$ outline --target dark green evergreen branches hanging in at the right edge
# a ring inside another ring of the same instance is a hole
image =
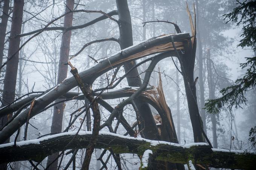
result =
[[[237,1],[238,6],[232,12],[224,15],[227,22],[234,22],[236,25],[243,24],[242,39],[238,46],[244,48],[245,46],[251,47],[256,50],[256,0],[252,1]],[[240,18],[241,17],[241,18]],[[242,69],[248,68],[245,75],[235,81],[235,85],[222,89],[220,92],[222,97],[207,100],[205,109],[209,113],[218,113],[225,105],[229,109],[241,107],[241,104],[246,104],[247,99],[245,94],[251,89],[256,87],[256,57],[246,58],[247,62],[240,64]]]

